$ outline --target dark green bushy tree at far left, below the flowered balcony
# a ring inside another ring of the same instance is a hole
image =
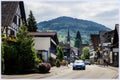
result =
[[[4,44],[4,66],[5,74],[13,74],[17,71],[18,64],[18,51],[15,45],[9,43]]]

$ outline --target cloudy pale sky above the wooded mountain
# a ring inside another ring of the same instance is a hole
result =
[[[33,12],[37,23],[60,16],[90,20],[110,29],[119,23],[119,0],[25,0],[26,17]]]

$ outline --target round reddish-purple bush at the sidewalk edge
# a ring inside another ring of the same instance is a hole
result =
[[[40,73],[47,73],[50,71],[51,65],[50,63],[40,63],[39,64],[39,72]]]

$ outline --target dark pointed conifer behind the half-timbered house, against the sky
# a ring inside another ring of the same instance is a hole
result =
[[[28,31],[29,32],[36,32],[37,31],[37,24],[35,21],[35,17],[33,16],[33,13],[31,10],[30,10],[29,17],[27,19],[27,23],[28,23]]]

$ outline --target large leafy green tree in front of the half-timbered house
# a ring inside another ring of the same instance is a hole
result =
[[[26,72],[34,68],[38,60],[34,46],[33,37],[28,34],[27,27],[23,22],[17,32],[18,71]]]

